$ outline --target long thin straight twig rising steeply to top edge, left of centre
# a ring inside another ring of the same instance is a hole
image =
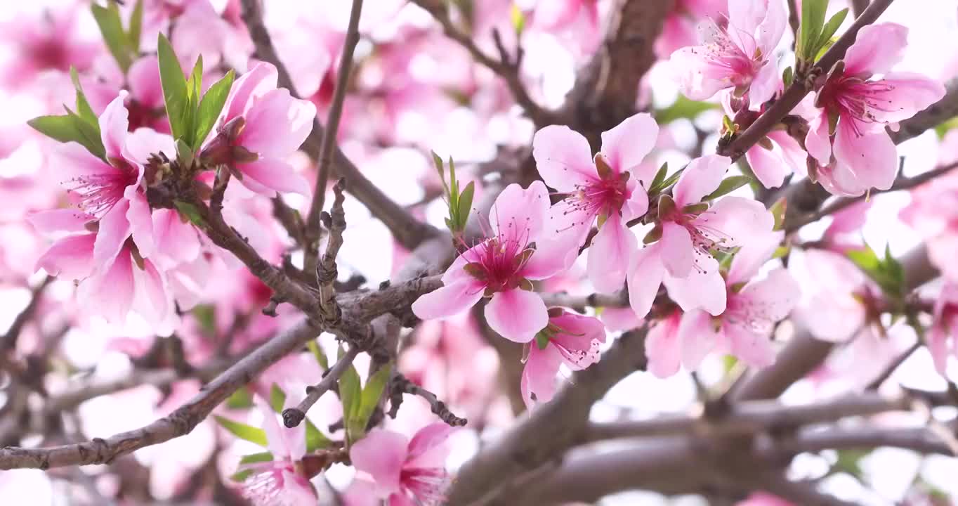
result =
[[[339,70],[336,75],[336,88],[332,93],[330,113],[326,120],[326,130],[323,132],[323,142],[319,146],[317,160],[316,188],[313,190],[312,203],[306,219],[306,256],[303,261],[304,270],[312,272],[316,268],[316,257],[319,251],[319,214],[326,201],[326,186],[332,172],[332,152],[336,149],[336,134],[339,132],[339,120],[343,115],[343,102],[346,99],[346,88],[349,87],[350,75],[353,72],[353,53],[356,43],[359,42],[359,15],[362,12],[362,0],[353,0],[353,9],[350,11],[349,28],[346,31],[346,40],[343,41],[342,55],[339,57]]]

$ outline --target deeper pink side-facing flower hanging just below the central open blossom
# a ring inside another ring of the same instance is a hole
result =
[[[552,399],[562,363],[581,371],[599,361],[599,345],[605,342],[605,328],[596,318],[559,308],[549,315],[549,325],[536,336],[522,370],[522,398],[530,408]]]

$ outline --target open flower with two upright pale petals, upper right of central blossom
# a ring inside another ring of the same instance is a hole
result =
[[[640,164],[655,146],[658,131],[649,114],[636,114],[602,134],[602,150],[594,158],[588,141],[569,127],[544,127],[533,139],[539,174],[566,195],[550,209],[549,228],[578,246],[598,221],[586,268],[600,291],[622,288],[628,261],[638,249],[627,222],[649,209],[640,181],[649,184],[653,174]]]

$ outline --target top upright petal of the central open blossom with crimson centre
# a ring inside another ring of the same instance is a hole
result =
[[[513,183],[495,198],[489,212],[492,233],[519,242],[535,241],[549,213],[549,191],[542,181],[523,189]]]

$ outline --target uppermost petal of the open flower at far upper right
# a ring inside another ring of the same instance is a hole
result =
[[[885,74],[904,56],[908,28],[898,23],[862,27],[845,53],[845,74],[864,77]]]

